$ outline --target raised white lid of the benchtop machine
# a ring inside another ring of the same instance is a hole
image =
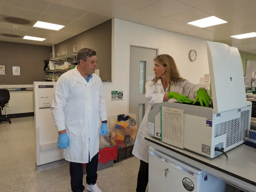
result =
[[[238,49],[207,41],[207,54],[214,113],[246,107],[243,66]]]

